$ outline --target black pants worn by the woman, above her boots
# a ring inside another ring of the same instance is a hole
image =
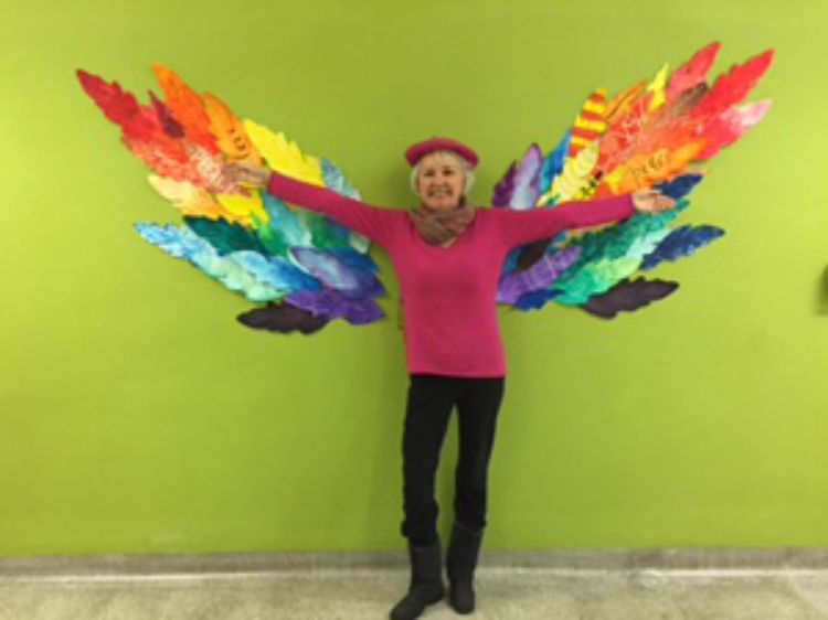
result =
[[[455,519],[486,526],[486,484],[495,428],[503,397],[502,377],[412,375],[403,435],[402,533],[415,546],[437,539],[434,478],[452,409],[457,406],[459,457],[455,470]]]

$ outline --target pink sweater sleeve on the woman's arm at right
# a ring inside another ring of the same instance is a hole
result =
[[[590,202],[567,202],[553,209],[513,211],[495,210],[498,228],[507,247],[517,247],[554,237],[562,231],[597,226],[630,217],[635,212],[633,196],[625,194]]]

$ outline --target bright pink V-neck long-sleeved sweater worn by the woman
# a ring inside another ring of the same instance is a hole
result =
[[[480,209],[453,245],[440,247],[420,236],[405,211],[371,206],[280,174],[270,177],[268,191],[384,247],[405,304],[408,373],[463,377],[506,375],[496,298],[510,249],[635,213],[628,195],[555,209]]]

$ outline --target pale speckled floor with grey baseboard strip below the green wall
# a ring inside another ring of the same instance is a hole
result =
[[[108,565],[75,574],[65,566],[33,571],[0,565],[0,620],[382,619],[407,585],[399,558],[332,564],[199,571]],[[828,568],[491,564],[478,575],[473,618],[480,620],[828,619]],[[442,602],[423,618],[457,616]]]

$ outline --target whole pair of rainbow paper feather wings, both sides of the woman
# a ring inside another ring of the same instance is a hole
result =
[[[637,214],[585,234],[564,234],[512,252],[498,301],[520,310],[548,301],[612,318],[670,295],[678,285],[638,278],[662,260],[689,256],[723,232],[671,228],[702,179],[703,163],[756,125],[769,101],[743,104],[773,52],[735,66],[711,86],[712,44],[668,79],[667,67],[609,98],[593,93],[559,146],[532,145],[497,184],[492,205],[552,207],[572,200],[656,189],[676,209]],[[253,302],[247,327],[311,333],[332,319],[365,324],[384,313],[385,295],[369,243],[323,215],[295,209],[264,191],[229,181],[229,161],[265,164],[301,181],[359,197],[331,161],[301,152],[283,133],[240,119],[217,97],[192,90],[172,71],[153,67],[164,99],[150,105],[113,82],[78,71],[83,88],[123,141],[151,170],[151,185],[181,213],[183,225],[137,224],[150,243],[182,258]]]

